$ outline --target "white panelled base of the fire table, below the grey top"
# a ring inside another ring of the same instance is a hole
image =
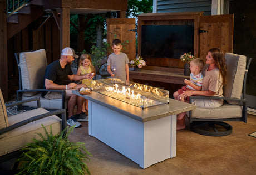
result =
[[[88,107],[89,135],[141,168],[176,157],[176,114],[140,122],[90,100]]]

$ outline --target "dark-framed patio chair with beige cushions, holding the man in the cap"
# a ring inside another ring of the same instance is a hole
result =
[[[14,55],[16,57],[19,71],[19,90],[17,91],[17,100],[40,97],[41,106],[48,110],[67,109],[67,103],[65,103],[65,91],[43,89],[45,69],[48,65],[45,49],[15,53]],[[41,96],[42,91],[61,92],[62,99],[45,99]],[[37,104],[35,101],[22,104],[23,109],[35,108],[36,106]]]

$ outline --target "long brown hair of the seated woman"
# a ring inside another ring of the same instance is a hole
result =
[[[227,65],[222,50],[220,48],[212,48],[209,50],[209,52],[213,56],[215,65],[220,70],[220,74],[223,79],[223,85],[227,84]]]

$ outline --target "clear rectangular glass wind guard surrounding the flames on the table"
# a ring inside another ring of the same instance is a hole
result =
[[[115,78],[93,80],[92,90],[142,109],[169,103],[168,90]]]

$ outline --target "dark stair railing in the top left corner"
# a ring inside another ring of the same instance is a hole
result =
[[[22,7],[26,6],[26,4],[28,4],[29,2],[31,2],[32,0],[7,0],[6,1],[6,6],[7,6],[7,18],[9,16],[11,16],[12,14],[14,14],[15,12],[17,12],[19,9],[21,9]]]

